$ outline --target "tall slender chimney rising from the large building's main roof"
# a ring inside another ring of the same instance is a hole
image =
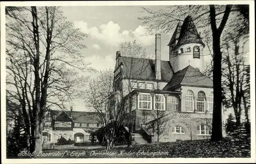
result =
[[[155,58],[156,58],[156,79],[161,80],[161,34],[156,34],[155,44]]]

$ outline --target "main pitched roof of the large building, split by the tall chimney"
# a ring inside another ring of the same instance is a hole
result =
[[[120,57],[123,63],[123,77],[131,79],[156,80],[153,59]],[[173,68],[169,61],[161,61],[161,80],[169,81],[173,77]]]

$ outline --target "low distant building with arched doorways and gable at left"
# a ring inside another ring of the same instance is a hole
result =
[[[98,142],[94,135],[100,124],[97,120],[97,113],[78,111],[53,111],[47,113],[44,123],[43,142],[57,143],[58,139],[65,138],[75,143]]]

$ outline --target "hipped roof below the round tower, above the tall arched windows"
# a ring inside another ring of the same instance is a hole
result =
[[[195,85],[202,87],[212,87],[212,80],[202,74],[198,69],[187,66],[176,72],[170,82],[163,88],[165,91],[171,91],[179,85]]]

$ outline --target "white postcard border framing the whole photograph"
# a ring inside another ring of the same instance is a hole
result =
[[[2,128],[2,163],[238,163],[256,162],[255,160],[255,26],[254,26],[254,1],[119,1],[119,2],[1,2],[1,123],[6,124],[5,112],[5,6],[153,6],[153,5],[226,5],[226,4],[249,4],[250,10],[250,71],[251,71],[251,158],[102,158],[102,159],[6,159],[6,128]],[[5,127],[5,126],[3,126]]]

